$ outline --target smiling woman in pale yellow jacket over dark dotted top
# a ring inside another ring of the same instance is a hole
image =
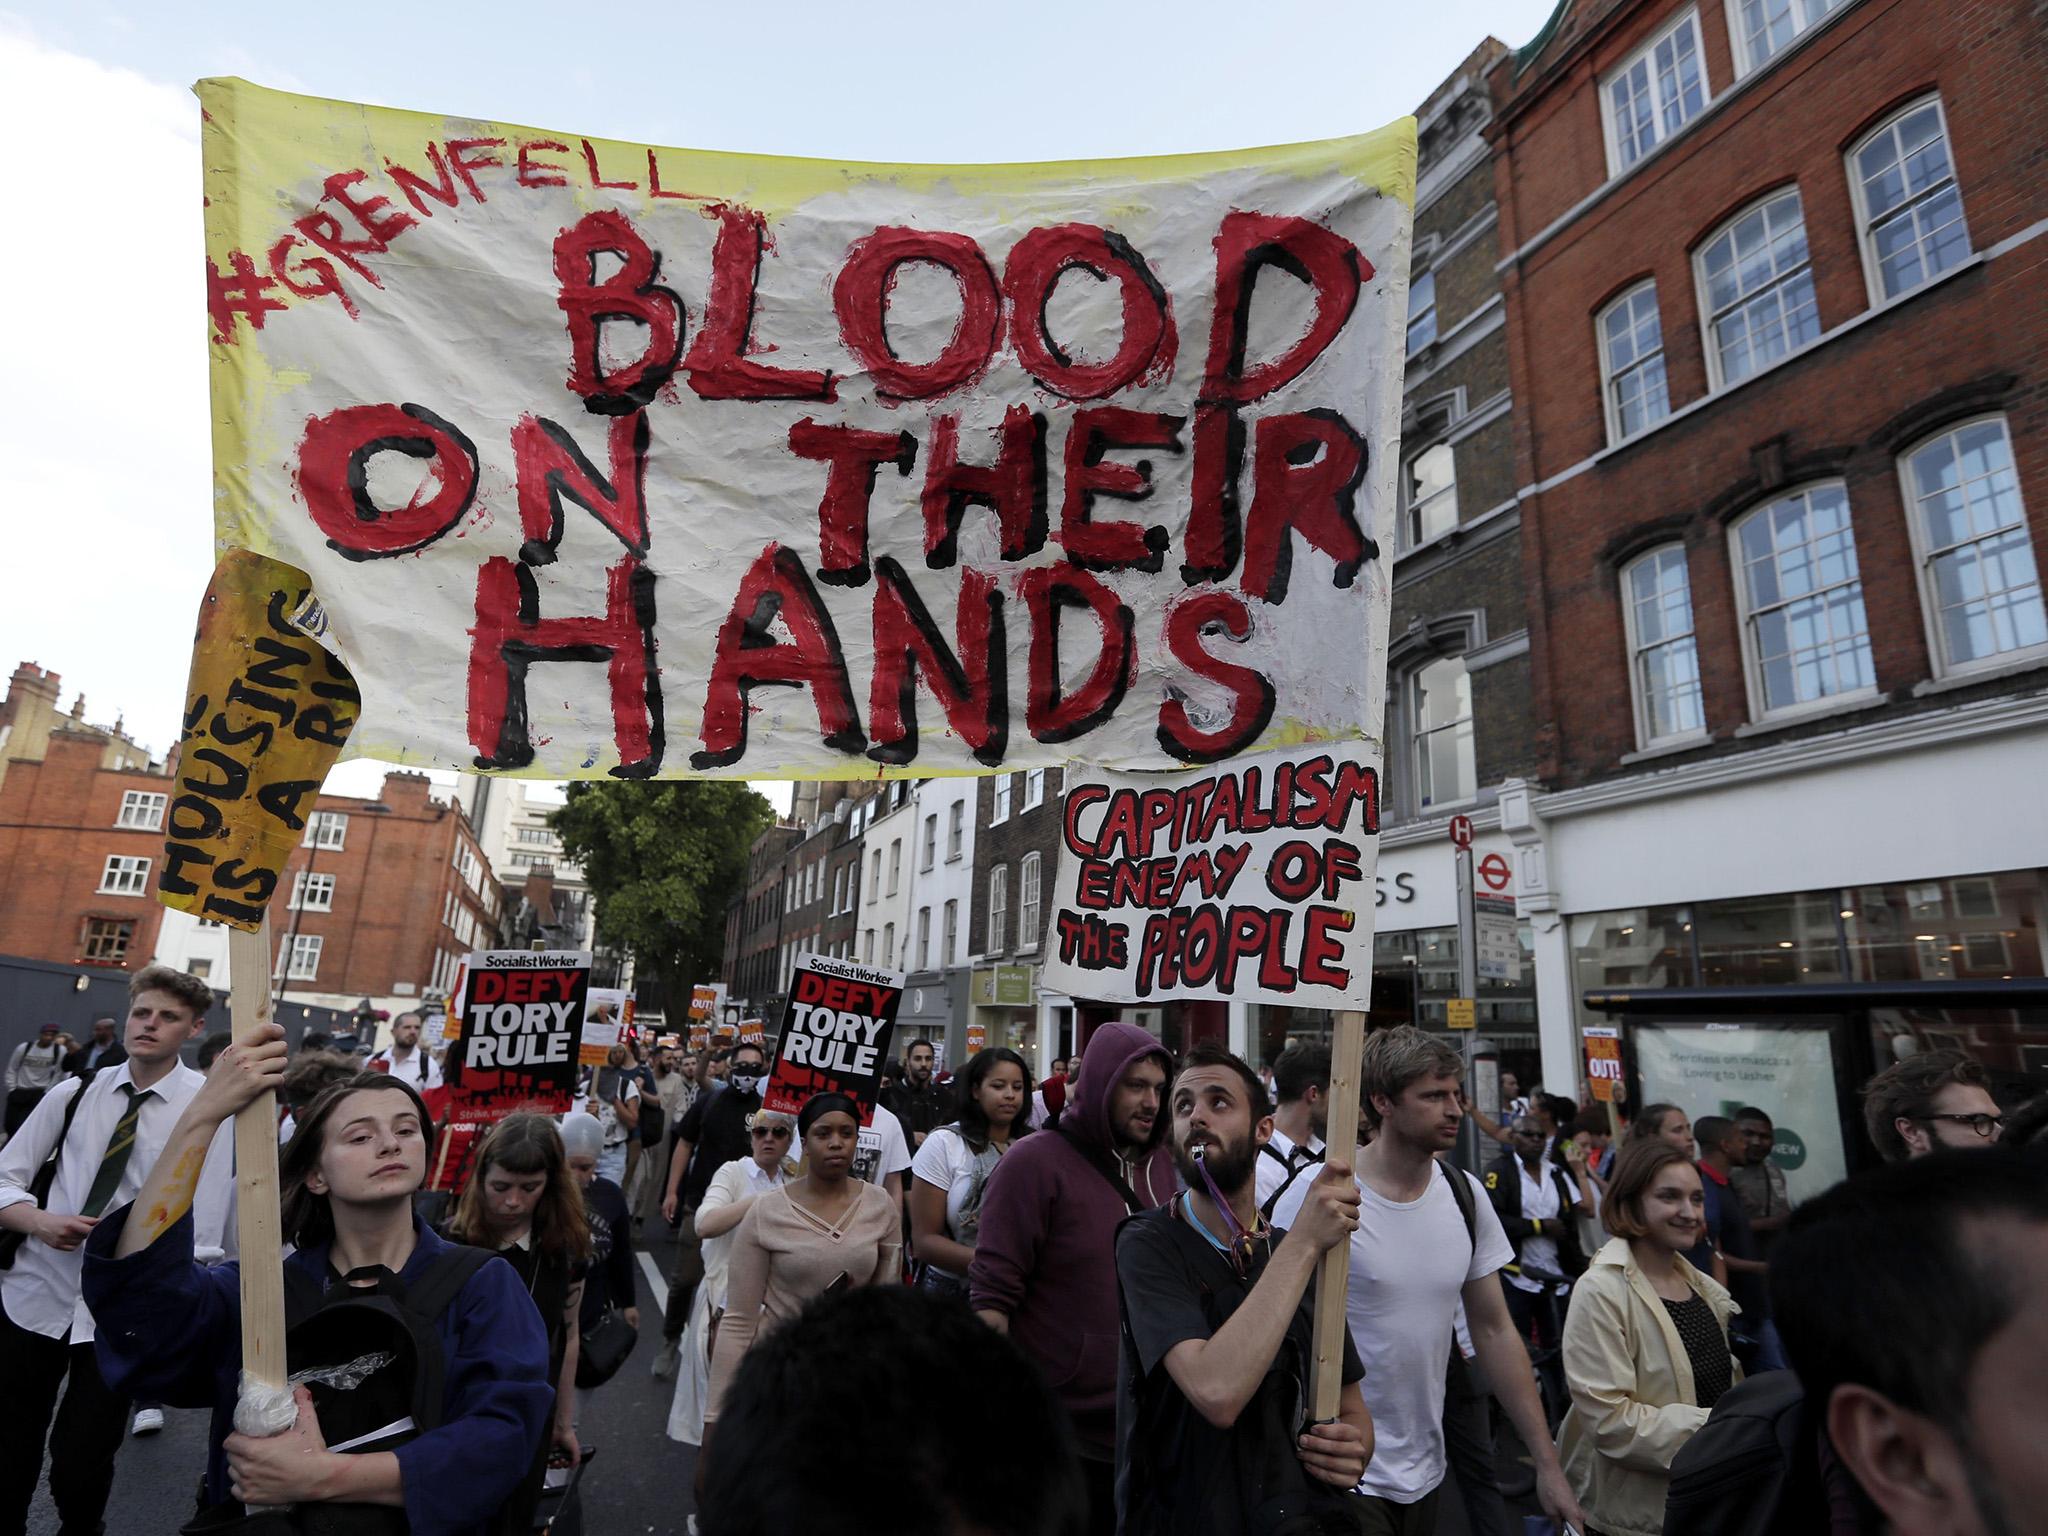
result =
[[[1737,1380],[1735,1303],[1683,1257],[1706,1204],[1700,1169],[1677,1147],[1628,1143],[1599,1221],[1612,1239],[1565,1317],[1571,1411],[1556,1448],[1589,1536],[1661,1536],[1671,1458]]]

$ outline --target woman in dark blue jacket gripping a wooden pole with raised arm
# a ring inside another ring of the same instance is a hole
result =
[[[518,1487],[551,1403],[547,1335],[506,1264],[475,1266],[436,1317],[444,1389],[432,1427],[391,1450],[334,1452],[299,1386],[289,1430],[229,1434],[242,1370],[240,1266],[193,1260],[193,1192],[219,1124],[283,1075],[279,1026],[227,1047],[135,1202],[94,1229],[84,1294],[100,1323],[100,1366],[117,1391],[213,1409],[209,1503],[385,1505],[403,1509],[416,1536],[481,1532]],[[328,1296],[336,1286],[401,1294],[442,1270],[455,1247],[412,1214],[432,1137],[420,1096],[387,1073],[324,1090],[281,1163],[285,1239],[297,1249],[287,1276],[297,1272]]]

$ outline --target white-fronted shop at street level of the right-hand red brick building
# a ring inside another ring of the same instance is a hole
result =
[[[1546,1081],[1579,1083],[1579,1030],[1614,1022],[1587,997],[1634,993],[1636,1102],[1698,1118],[1778,1114],[1780,1096],[1817,1188],[1868,1157],[1860,1090],[1907,1055],[1968,1051],[2007,1104],[2048,1090],[2044,762],[2048,700],[1991,700],[1563,795],[1509,786]],[[1659,995],[1706,1001],[1665,1016]]]

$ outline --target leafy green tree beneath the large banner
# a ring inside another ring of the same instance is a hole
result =
[[[737,780],[584,780],[551,823],[584,866],[598,942],[631,950],[670,997],[721,975],[725,909],[774,807]]]

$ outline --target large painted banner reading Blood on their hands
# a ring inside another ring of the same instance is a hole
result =
[[[1407,119],[881,166],[199,96],[215,537],[309,573],[350,754],[844,778],[1378,729]]]

